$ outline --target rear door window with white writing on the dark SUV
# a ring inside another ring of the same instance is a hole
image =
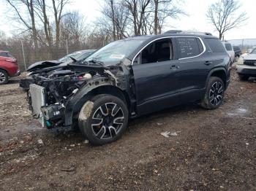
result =
[[[192,56],[200,55],[203,52],[203,44],[200,39],[194,37],[178,37],[177,47],[179,58],[189,58]]]

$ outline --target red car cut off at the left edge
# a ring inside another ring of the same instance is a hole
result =
[[[9,77],[20,74],[17,60],[8,51],[0,50],[0,85],[7,84]]]

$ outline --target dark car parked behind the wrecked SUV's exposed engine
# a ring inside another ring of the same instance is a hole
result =
[[[63,58],[60,58],[57,61],[39,61],[36,63],[31,64],[31,66],[28,67],[27,71],[36,71],[38,69],[45,69],[51,66],[58,66],[61,63],[72,63],[72,61],[75,59],[78,59],[80,55],[83,55],[83,57],[89,56],[92,52],[95,50],[80,50],[77,52],[72,52],[69,55],[65,55]]]

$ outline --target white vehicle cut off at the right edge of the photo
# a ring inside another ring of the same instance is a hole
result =
[[[241,80],[256,77],[256,48],[249,54],[241,56],[236,65],[236,72]]]

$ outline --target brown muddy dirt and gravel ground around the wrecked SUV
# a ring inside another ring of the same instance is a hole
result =
[[[17,82],[0,87],[0,190],[256,190],[255,79],[233,72],[219,109],[140,117],[101,147],[41,128]]]

